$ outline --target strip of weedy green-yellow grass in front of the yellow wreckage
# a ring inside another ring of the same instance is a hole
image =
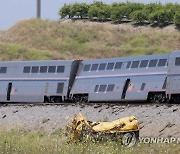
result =
[[[1,130],[0,138],[0,153],[3,154],[176,154],[180,151],[178,144],[137,144],[126,148],[120,141],[68,143],[62,131],[48,135],[43,131]]]

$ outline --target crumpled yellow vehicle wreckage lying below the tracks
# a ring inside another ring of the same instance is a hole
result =
[[[70,139],[82,141],[84,139],[104,140],[104,139],[122,139],[126,133],[134,133],[139,136],[139,122],[134,116],[114,120],[112,122],[91,122],[79,113],[67,126],[70,133]]]

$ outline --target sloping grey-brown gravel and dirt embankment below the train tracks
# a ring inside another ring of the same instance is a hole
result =
[[[141,137],[180,137],[180,105],[63,105],[1,106],[0,129],[65,129],[81,112],[91,121],[111,121],[134,115],[140,122]]]

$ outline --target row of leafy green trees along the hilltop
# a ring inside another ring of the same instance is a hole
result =
[[[65,4],[60,10],[61,18],[87,18],[112,21],[130,20],[137,23],[157,24],[165,26],[175,23],[179,27],[179,4],[161,3],[112,3],[105,4],[95,1],[93,4],[74,3]]]

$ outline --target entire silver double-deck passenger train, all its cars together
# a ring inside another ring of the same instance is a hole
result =
[[[96,60],[0,62],[0,102],[180,101],[180,51]]]

